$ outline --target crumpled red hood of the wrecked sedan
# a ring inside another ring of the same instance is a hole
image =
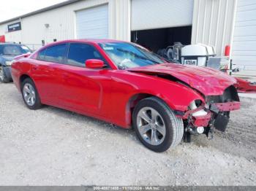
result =
[[[222,95],[227,87],[237,83],[235,78],[222,71],[176,63],[162,63],[127,70],[143,74],[168,74],[204,95]]]

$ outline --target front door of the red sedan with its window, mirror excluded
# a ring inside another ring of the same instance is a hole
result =
[[[100,59],[106,67],[87,69],[88,59]],[[110,100],[110,67],[97,49],[91,44],[71,43],[66,64],[59,67],[62,86],[59,96],[65,106],[79,112],[105,116],[104,108]]]

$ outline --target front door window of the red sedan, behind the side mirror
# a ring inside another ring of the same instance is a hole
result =
[[[68,64],[85,67],[85,62],[89,59],[99,59],[105,62],[102,55],[89,44],[72,43],[69,45]]]

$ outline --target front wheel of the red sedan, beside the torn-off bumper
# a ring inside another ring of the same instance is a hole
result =
[[[132,114],[132,125],[142,144],[154,152],[176,147],[184,134],[181,118],[156,97],[138,102]]]

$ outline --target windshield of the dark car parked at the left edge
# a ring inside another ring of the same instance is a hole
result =
[[[31,52],[29,47],[15,44],[1,44],[0,55],[22,55]]]

